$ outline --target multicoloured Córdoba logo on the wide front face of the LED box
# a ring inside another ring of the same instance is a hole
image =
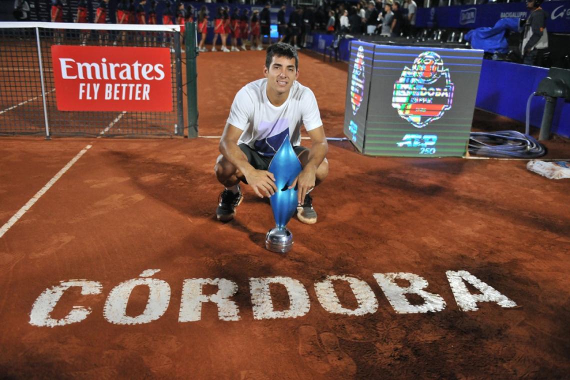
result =
[[[412,68],[404,67],[394,83],[392,107],[416,128],[423,128],[451,110],[454,86],[441,56],[425,51],[414,59]]]

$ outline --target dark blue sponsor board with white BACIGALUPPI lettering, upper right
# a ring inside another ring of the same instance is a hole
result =
[[[570,33],[570,0],[545,1],[546,28],[551,33]],[[418,8],[417,27],[470,28],[491,27],[502,18],[528,18],[524,2],[489,3],[435,8]]]

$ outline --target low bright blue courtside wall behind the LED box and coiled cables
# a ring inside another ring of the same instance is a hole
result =
[[[330,34],[313,34],[311,49],[323,53],[333,39]],[[344,61],[348,61],[349,41],[344,39],[340,43],[340,58]],[[475,107],[524,123],[528,96],[547,74],[548,69],[543,67],[485,59]],[[544,98],[535,96],[531,103],[531,126],[540,127],[543,110]],[[559,99],[556,104],[552,132],[570,138],[570,102],[564,102],[564,99]]]

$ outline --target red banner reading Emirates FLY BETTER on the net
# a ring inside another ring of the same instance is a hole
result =
[[[51,47],[60,111],[172,111],[167,47]]]

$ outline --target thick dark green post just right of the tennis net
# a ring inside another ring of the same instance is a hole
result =
[[[196,22],[187,22],[186,39],[186,102],[188,103],[188,138],[198,137],[198,86],[196,57],[198,56]]]

